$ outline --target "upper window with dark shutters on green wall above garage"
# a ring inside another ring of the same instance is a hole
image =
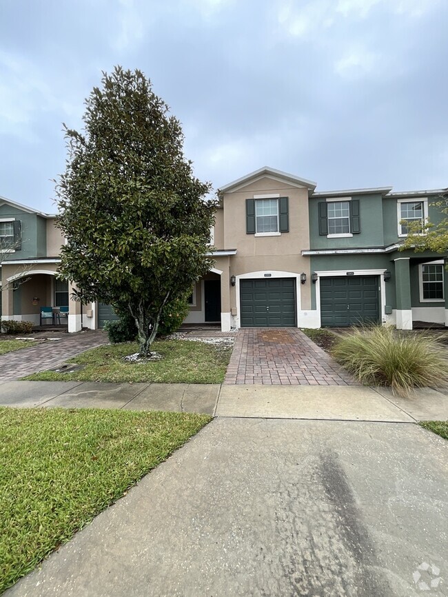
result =
[[[319,234],[329,239],[359,234],[359,199],[327,199],[318,204]]]

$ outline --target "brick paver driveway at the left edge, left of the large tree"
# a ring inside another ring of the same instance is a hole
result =
[[[108,336],[102,330],[88,330],[77,334],[63,334],[60,340],[48,340],[37,346],[2,354],[0,382],[56,367],[79,352],[107,342]]]

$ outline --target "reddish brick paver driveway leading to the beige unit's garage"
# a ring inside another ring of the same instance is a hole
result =
[[[224,383],[356,385],[303,332],[284,327],[240,330]]]

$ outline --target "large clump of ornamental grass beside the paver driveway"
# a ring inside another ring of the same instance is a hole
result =
[[[391,326],[355,328],[338,341],[332,355],[360,383],[389,385],[401,396],[415,387],[448,382],[447,347],[427,334]]]

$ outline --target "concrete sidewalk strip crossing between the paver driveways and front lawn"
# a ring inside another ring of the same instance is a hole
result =
[[[448,420],[448,397],[423,388],[409,398],[387,388],[10,381],[0,406],[199,412],[218,417],[334,421]]]

